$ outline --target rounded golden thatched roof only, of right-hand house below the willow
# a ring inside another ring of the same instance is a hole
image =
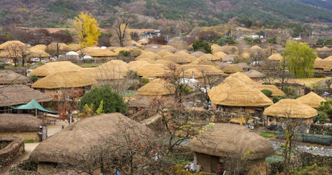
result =
[[[290,114],[290,116],[287,115]],[[282,118],[312,118],[317,116],[317,110],[302,104],[299,100],[295,99],[282,99],[279,102],[267,107],[264,110],[265,116],[276,116]]]

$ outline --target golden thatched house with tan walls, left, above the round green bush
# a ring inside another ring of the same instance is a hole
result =
[[[32,87],[57,99],[59,96],[62,97],[62,89],[83,89],[84,91],[89,91],[93,84],[98,84],[98,82],[81,71],[62,71],[51,73],[37,80]]]

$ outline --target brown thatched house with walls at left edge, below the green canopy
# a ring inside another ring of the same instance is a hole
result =
[[[20,137],[24,140],[42,141],[39,140],[38,133],[42,131],[39,127],[46,128],[46,125],[33,115],[27,113],[0,113],[0,137]]]

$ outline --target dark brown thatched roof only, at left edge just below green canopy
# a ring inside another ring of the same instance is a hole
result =
[[[0,132],[39,131],[44,122],[26,113],[0,113]]]

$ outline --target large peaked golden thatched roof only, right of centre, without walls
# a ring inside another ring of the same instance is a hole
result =
[[[237,77],[228,77],[208,93],[213,104],[231,107],[266,107],[273,102],[254,86]]]

